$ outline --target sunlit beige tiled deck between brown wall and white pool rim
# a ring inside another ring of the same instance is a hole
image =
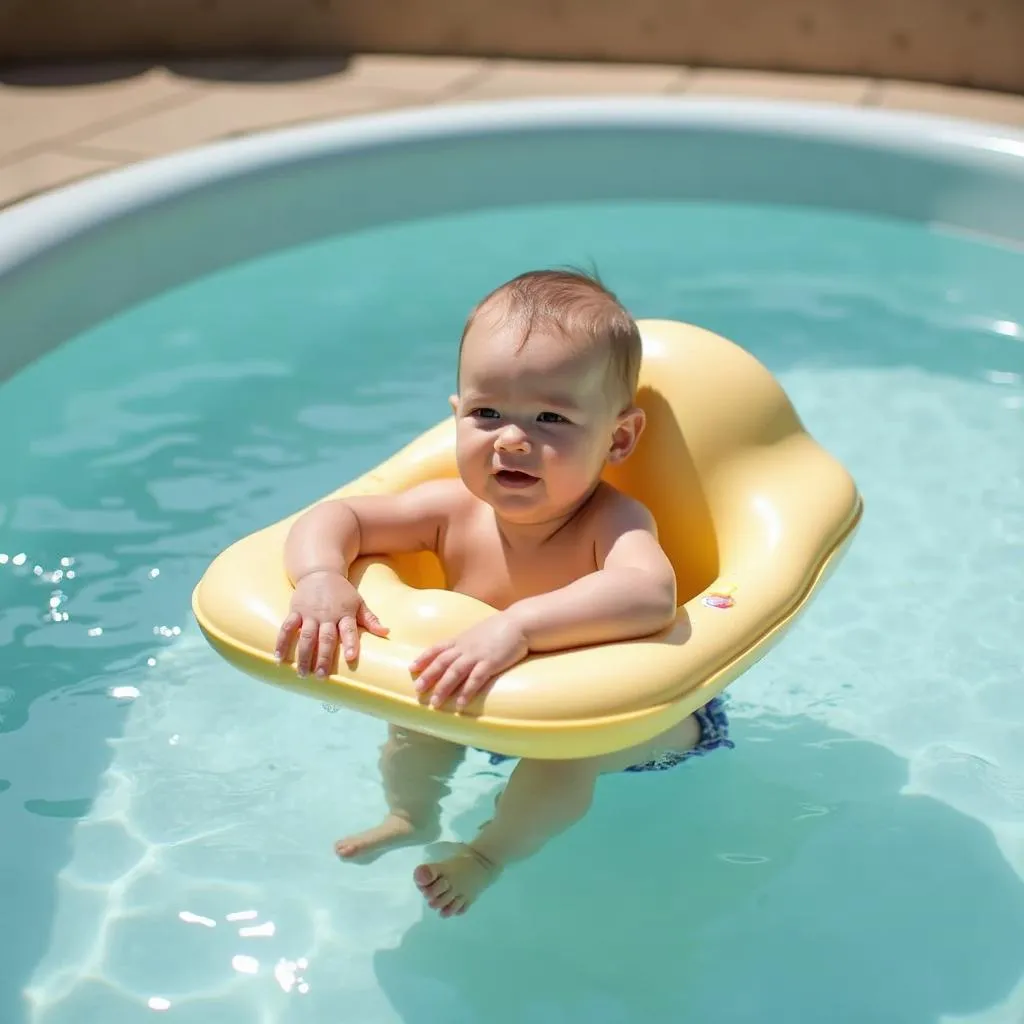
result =
[[[1024,127],[1024,96],[869,78],[449,57],[0,69],[0,207],[176,150],[401,106],[660,94],[925,111]]]

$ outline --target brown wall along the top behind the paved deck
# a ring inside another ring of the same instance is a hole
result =
[[[1024,93],[1024,0],[5,0],[0,59],[449,53],[839,72]]]

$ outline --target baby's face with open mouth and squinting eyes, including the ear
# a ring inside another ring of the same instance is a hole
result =
[[[462,350],[457,422],[466,486],[510,522],[540,523],[574,509],[609,458],[623,452],[607,352],[478,316]]]

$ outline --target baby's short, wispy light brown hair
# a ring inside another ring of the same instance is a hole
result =
[[[570,341],[597,342],[608,349],[609,381],[626,404],[633,401],[640,375],[641,342],[636,321],[597,276],[573,267],[529,270],[513,278],[476,304],[462,332],[462,343],[483,310],[500,309],[499,318],[521,332],[525,345],[537,328],[554,328]]]

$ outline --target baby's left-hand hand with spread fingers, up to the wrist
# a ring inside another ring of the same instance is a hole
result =
[[[358,627],[375,636],[387,636],[387,627],[367,607],[359,592],[340,572],[310,572],[296,585],[292,610],[281,625],[274,655],[289,656],[298,636],[295,668],[300,676],[316,667],[324,677],[334,666],[338,637],[341,636],[345,659],[352,662],[359,652]]]

